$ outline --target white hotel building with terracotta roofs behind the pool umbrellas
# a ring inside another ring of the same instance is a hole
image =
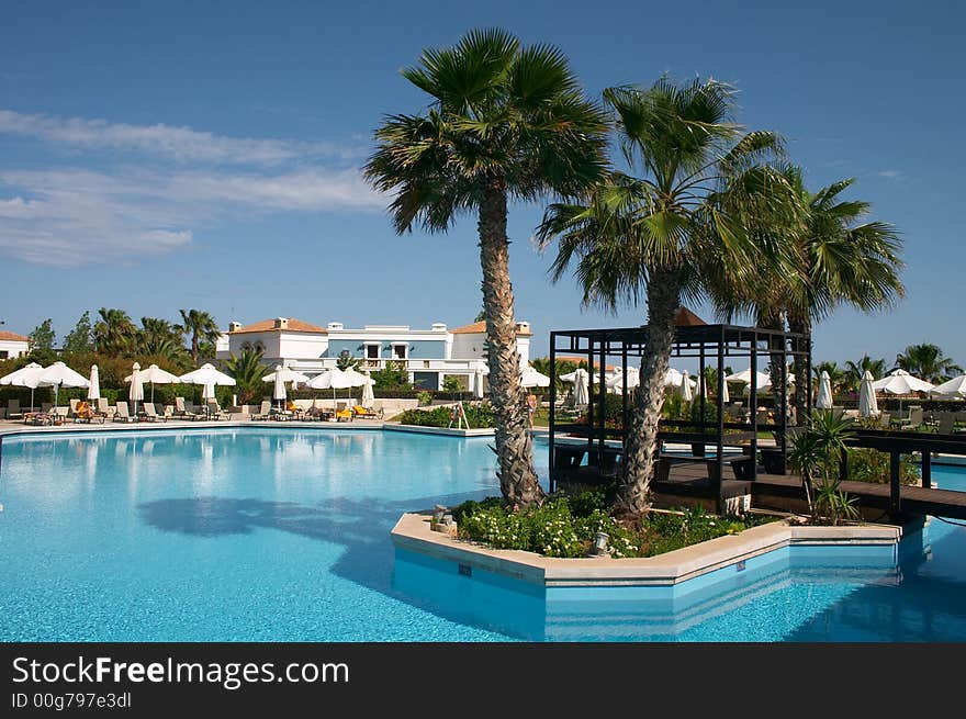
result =
[[[530,361],[530,324],[517,323],[517,352],[520,362]],[[360,360],[360,370],[381,370],[389,362],[403,362],[409,381],[430,390],[441,390],[447,375],[465,378],[473,386],[478,370],[486,367],[486,325],[473,323],[448,329],[434,323],[429,329],[408,325],[366,325],[346,328],[340,322],[325,327],[301,319],[277,317],[243,326],[233,322],[222,335],[216,357],[227,359],[243,349],[259,348],[271,367],[284,364],[310,377],[336,367],[339,357]]]

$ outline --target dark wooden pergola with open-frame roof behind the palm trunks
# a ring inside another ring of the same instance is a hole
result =
[[[589,404],[586,408],[586,424],[560,422],[557,408],[557,387],[550,384],[550,487],[557,488],[559,481],[579,481],[581,483],[599,483],[609,481],[618,468],[619,458],[627,439],[630,406],[630,392],[625,387],[621,396],[622,422],[619,427],[605,424],[605,402],[607,386],[605,383],[608,362],[620,367],[627,377],[629,366],[639,366],[640,358],[648,344],[648,332],[644,327],[624,327],[608,329],[568,329],[550,333],[550,367],[551,375],[555,377],[558,356],[586,358],[589,373]],[[776,439],[775,449],[763,450],[766,468],[785,467],[788,435],[788,361],[804,362],[808,375],[811,377],[811,342],[805,335],[762,327],[741,327],[735,325],[708,325],[694,313],[682,307],[678,310],[672,358],[697,358],[699,374],[698,394],[694,402],[700,404],[698,419],[662,420],[659,428],[659,442],[676,441],[690,443],[690,457],[666,458],[667,462],[700,462],[708,468],[711,488],[720,495],[723,476],[724,448],[740,446],[748,458],[735,473],[742,472],[742,479],[753,480],[757,473],[760,430],[771,430]],[[772,380],[774,394],[774,417],[771,423],[761,423],[757,417],[759,391],[756,372],[759,359],[762,358],[778,369],[778,378]],[[726,420],[721,395],[724,384],[724,367],[734,359],[748,359],[752,369],[749,385],[748,420],[730,418]],[[718,370],[718,386],[714,398],[709,392],[700,392],[701,377],[706,367]],[[777,379],[777,381],[775,381]],[[811,412],[811,392],[806,392],[806,408]],[[714,401],[717,408],[715,422],[706,420],[706,403]],[[679,428],[687,427],[688,430]],[[677,428],[675,430],[675,428]],[[730,430],[730,431],[726,431]],[[734,431],[737,430],[737,431]],[[706,445],[714,445],[714,458],[705,457]],[[767,454],[767,456],[766,456]],[[739,456],[740,457],[740,456]],[[586,459],[586,463],[584,460]],[[659,468],[661,463],[659,463]],[[770,470],[771,471],[771,470]],[[780,471],[784,471],[782,469]],[[660,472],[660,469],[659,469]]]

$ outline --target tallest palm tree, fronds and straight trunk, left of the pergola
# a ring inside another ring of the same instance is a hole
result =
[[[423,114],[386,117],[366,178],[392,194],[398,234],[417,222],[446,232],[459,215],[476,214],[501,492],[510,507],[539,504],[516,347],[507,199],[585,192],[606,167],[606,115],[584,98],[559,49],[521,47],[503,30],[474,30],[453,47],[426,49],[402,74],[431,103]]]

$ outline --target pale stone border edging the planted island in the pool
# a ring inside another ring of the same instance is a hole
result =
[[[404,514],[392,529],[400,549],[464,564],[544,587],[666,586],[789,546],[897,544],[892,525],[790,526],[775,521],[658,557],[557,559],[518,550],[494,550],[429,528],[428,514]]]

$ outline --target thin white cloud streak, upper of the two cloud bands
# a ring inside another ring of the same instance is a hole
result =
[[[300,160],[358,158],[364,145],[227,137],[191,127],[130,125],[105,120],[52,117],[0,110],[0,135],[33,137],[85,149],[114,149],[151,155],[177,162],[280,165]]]

